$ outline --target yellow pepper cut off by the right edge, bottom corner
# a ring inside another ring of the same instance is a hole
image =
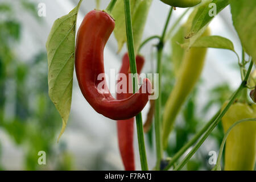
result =
[[[226,104],[228,102],[224,107]],[[222,118],[225,133],[235,122],[249,118],[256,118],[256,105],[234,103]],[[254,170],[255,155],[256,122],[243,122],[233,127],[225,145],[225,171]]]

